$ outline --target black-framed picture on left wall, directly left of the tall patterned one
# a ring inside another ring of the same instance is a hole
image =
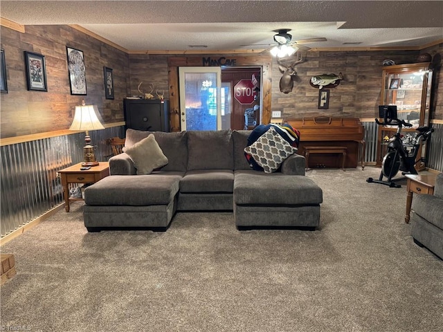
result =
[[[48,91],[44,56],[25,51],[26,83],[28,90]]]

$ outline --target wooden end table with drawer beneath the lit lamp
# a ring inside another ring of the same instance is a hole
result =
[[[107,161],[100,161],[100,165],[93,166],[84,171],[82,171],[80,167],[82,167],[82,163],[58,171],[60,179],[62,180],[64,210],[66,210],[66,212],[69,212],[69,200],[83,201],[83,199],[80,198],[69,197],[69,183],[96,183],[102,178],[109,176],[109,163]]]

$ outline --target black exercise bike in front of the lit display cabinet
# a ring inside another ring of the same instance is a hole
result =
[[[399,170],[402,171],[402,175],[417,174],[415,164],[418,161],[424,161],[424,158],[416,160],[418,151],[422,144],[428,140],[429,136],[431,136],[434,129],[427,126],[418,127],[416,129],[417,133],[415,137],[410,138],[408,144],[405,145],[402,140],[401,128],[413,127],[413,125],[405,120],[399,120],[397,118],[388,120],[386,116],[383,120],[384,122],[380,122],[378,119],[375,119],[375,122],[381,126],[395,125],[398,127],[398,129],[395,135],[388,140],[388,151],[383,157],[383,161],[381,163],[381,173],[379,179],[374,180],[374,178],[368,178],[366,179],[366,182],[381,183],[382,185],[388,185],[389,187],[399,188],[401,185],[398,185],[395,183],[395,181],[404,179],[404,176],[400,178],[394,177],[397,175]],[[383,177],[387,178],[386,181],[383,180]]]

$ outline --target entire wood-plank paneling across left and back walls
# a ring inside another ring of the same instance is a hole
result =
[[[137,86],[149,92],[164,91],[170,100],[171,127],[178,118],[177,66],[199,66],[196,55],[128,55],[123,50],[95,39],[71,26],[26,26],[19,33],[1,26],[1,48],[6,55],[8,93],[1,94],[1,138],[68,129],[81,100],[96,104],[105,123],[123,121],[123,98],[139,95]],[[66,61],[66,46],[84,52],[87,95],[71,95]],[[27,91],[24,51],[45,56],[48,92]],[[374,118],[381,93],[381,63],[393,59],[397,64],[415,62],[419,53],[433,55],[434,89],[431,118],[443,120],[443,75],[440,73],[443,44],[417,51],[309,51],[305,62],[296,66],[293,91],[280,92],[280,71],[275,59],[257,55],[223,55],[246,61],[248,66],[264,66],[263,122],[269,122],[271,111],[282,111],[283,118],[303,116],[342,116]],[[210,55],[215,58],[215,55]],[[264,61],[266,58],[266,61]],[[246,62],[239,61],[238,65]],[[113,68],[115,99],[106,100],[103,66]],[[344,80],[329,95],[329,109],[318,110],[318,89],[309,84],[311,76],[343,73]],[[266,74],[265,74],[266,75]],[[269,92],[265,92],[269,91]],[[269,106],[266,106],[269,105]]]

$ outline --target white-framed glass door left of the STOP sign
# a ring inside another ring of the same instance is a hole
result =
[[[180,67],[181,130],[221,129],[221,68]]]

